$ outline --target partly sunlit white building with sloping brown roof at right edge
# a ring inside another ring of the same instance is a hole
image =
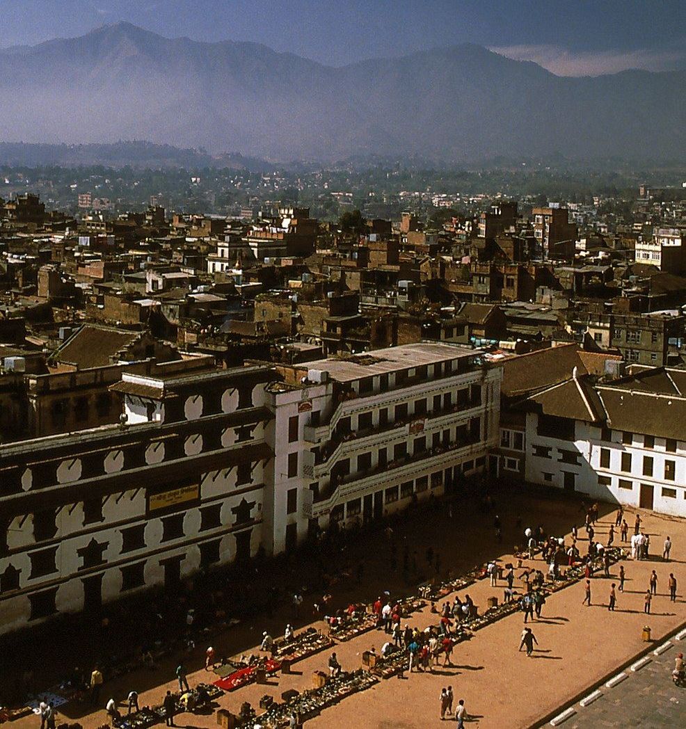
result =
[[[502,442],[512,448],[517,434],[516,443],[526,443],[528,483],[686,516],[683,370],[636,365],[596,385],[574,375],[515,410],[526,413],[523,430],[502,431]]]

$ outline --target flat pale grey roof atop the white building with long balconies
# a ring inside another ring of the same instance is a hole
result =
[[[338,382],[350,382],[373,375],[422,367],[425,364],[447,362],[451,359],[473,357],[483,350],[439,342],[418,342],[399,347],[375,349],[354,354],[346,359],[316,359],[305,363],[308,370],[323,370]]]

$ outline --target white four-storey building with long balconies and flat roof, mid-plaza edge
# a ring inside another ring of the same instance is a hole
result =
[[[502,370],[480,354],[417,343],[279,368],[273,550],[332,522],[378,520],[485,469]]]

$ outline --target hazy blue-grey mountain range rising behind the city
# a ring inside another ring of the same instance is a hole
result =
[[[686,71],[558,77],[461,44],[324,66],[129,23],[0,50],[0,141],[145,139],[267,160],[686,159]]]

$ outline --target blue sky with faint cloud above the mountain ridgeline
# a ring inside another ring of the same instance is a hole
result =
[[[473,42],[564,75],[686,66],[686,0],[0,0],[0,47],[118,20],[332,65]]]

